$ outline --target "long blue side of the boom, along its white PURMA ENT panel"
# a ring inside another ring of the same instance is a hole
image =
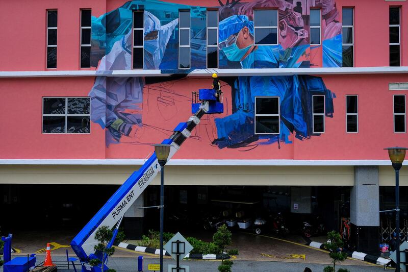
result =
[[[166,141],[166,143],[168,140]],[[171,143],[171,140],[170,140]],[[142,177],[143,173],[152,166],[156,161],[156,153],[153,153],[150,158],[140,167],[138,171],[133,172],[133,174],[119,187],[119,189],[111,196],[108,202],[92,217],[88,224],[80,231],[80,233],[73,238],[71,241],[72,250],[77,254],[81,261],[89,261],[89,256],[85,253],[82,245],[92,234],[92,232],[97,229],[102,222],[115,207],[119,204],[119,201],[129,193],[132,187],[136,184],[138,180]]]

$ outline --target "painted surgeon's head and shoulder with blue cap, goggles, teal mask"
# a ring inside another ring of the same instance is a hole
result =
[[[219,23],[218,48],[229,61],[240,62],[242,68],[253,68],[254,63],[264,68],[277,68],[278,51],[254,45],[253,34],[253,21],[248,16],[233,15]]]

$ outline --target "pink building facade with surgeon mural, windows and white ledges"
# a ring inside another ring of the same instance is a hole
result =
[[[69,190],[76,184],[120,184],[129,165],[141,165],[152,144],[191,116],[191,93],[210,88],[217,73],[224,113],[203,118],[168,163],[171,192],[196,197],[191,188],[200,185],[211,198],[213,185],[231,190],[253,185],[266,209],[265,195],[279,186],[288,192],[281,200],[289,203],[288,213],[324,214],[348,205],[333,228],[350,218],[354,229],[367,233],[355,239],[372,249],[379,210],[393,197],[393,172],[383,148],[408,146],[408,4],[205,4],[0,3],[4,26],[15,20],[16,9],[31,7],[21,11],[19,23],[2,30],[3,205],[13,207],[14,195],[22,198],[27,184],[34,190],[40,184],[65,184]],[[121,174],[105,179],[105,167]],[[58,178],[61,168],[73,176]],[[239,169],[252,173],[251,180],[235,177]],[[27,171],[36,177],[27,180],[22,176]],[[200,175],[191,179],[183,172]],[[405,173],[403,167],[406,217]],[[299,186],[305,195],[296,193]],[[140,203],[150,203],[155,193],[142,195]],[[314,203],[316,194],[330,193],[330,203],[324,197]],[[145,216],[135,210],[128,221],[143,226]]]

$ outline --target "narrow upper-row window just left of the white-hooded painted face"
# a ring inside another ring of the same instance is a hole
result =
[[[143,69],[143,11],[133,12],[133,69]],[[157,39],[158,31],[152,31],[146,34],[144,39]]]

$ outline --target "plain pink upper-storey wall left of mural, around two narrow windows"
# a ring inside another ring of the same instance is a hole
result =
[[[58,10],[57,70],[80,69],[80,9],[100,15],[105,6],[99,0],[0,1],[0,70],[45,70],[47,9]]]

